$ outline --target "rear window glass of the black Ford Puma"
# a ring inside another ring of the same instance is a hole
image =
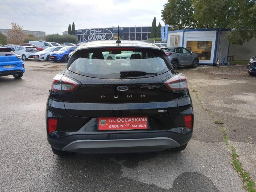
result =
[[[116,51],[114,49],[109,51],[108,49],[108,51],[77,52],[68,70],[79,75],[96,78],[121,78],[121,71],[122,73],[124,71],[146,73],[136,77],[142,78],[159,75],[171,69],[162,52],[148,50]]]

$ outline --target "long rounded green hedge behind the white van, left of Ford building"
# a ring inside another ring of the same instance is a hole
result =
[[[50,34],[45,36],[45,41],[47,42],[56,42],[59,44],[65,43],[65,42],[70,42],[77,44],[77,37],[74,35],[59,35],[59,34]]]

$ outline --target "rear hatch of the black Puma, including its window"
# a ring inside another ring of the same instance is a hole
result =
[[[129,53],[126,59],[104,60],[104,53]],[[79,84],[63,92],[69,115],[82,117],[157,116],[172,113],[179,92],[164,83],[174,76],[161,50],[105,48],[79,50],[71,57],[65,78]],[[159,112],[161,111],[161,113]]]

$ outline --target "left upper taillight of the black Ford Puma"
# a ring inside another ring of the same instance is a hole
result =
[[[52,91],[55,92],[72,92],[75,91],[79,83],[63,76],[62,74],[57,74],[52,80]]]

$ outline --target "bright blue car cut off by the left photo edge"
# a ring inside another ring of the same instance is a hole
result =
[[[21,56],[12,51],[11,48],[0,47],[0,76],[12,75],[19,79],[25,73]]]

